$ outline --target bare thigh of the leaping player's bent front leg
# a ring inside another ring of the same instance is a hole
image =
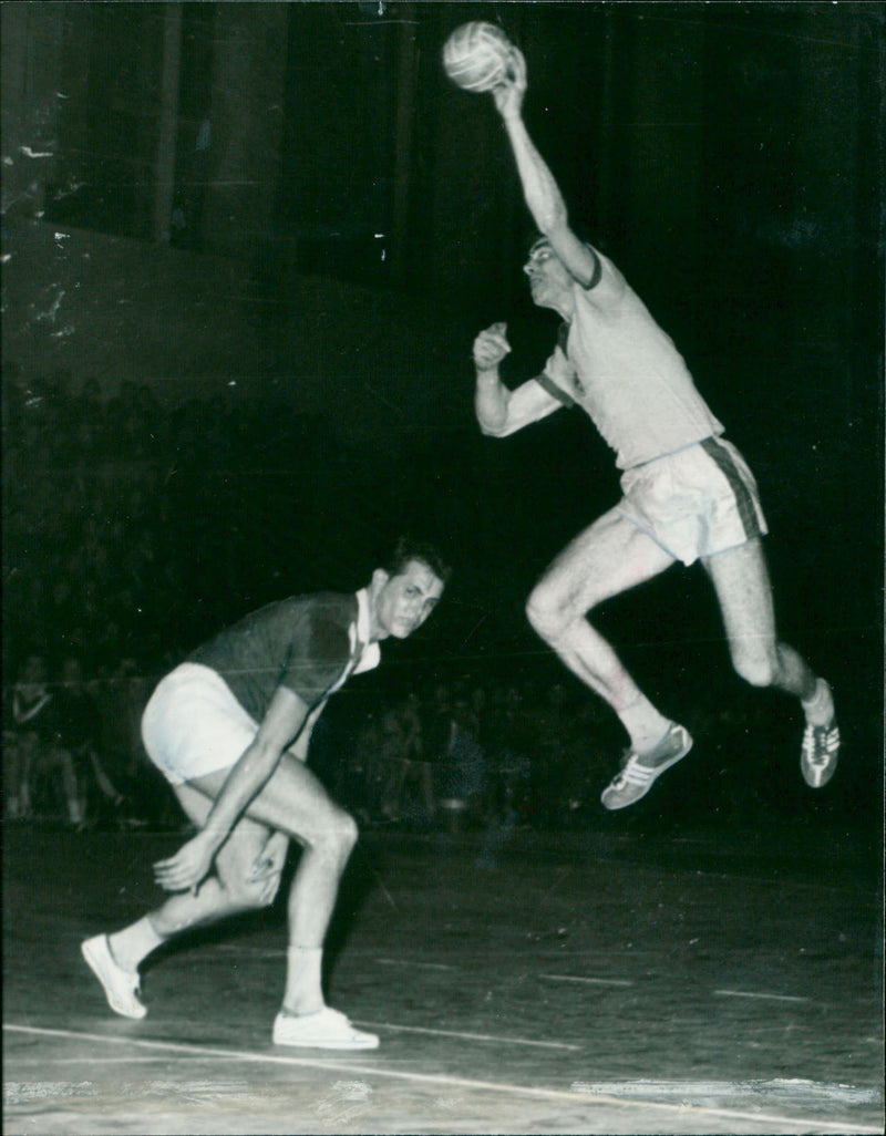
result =
[[[643,529],[610,509],[569,542],[544,571],[536,593],[588,611],[652,579],[674,562]]]

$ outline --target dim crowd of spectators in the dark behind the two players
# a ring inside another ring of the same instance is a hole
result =
[[[160,675],[232,612],[257,605],[250,570],[300,560],[316,569],[318,542],[294,531],[287,486],[312,477],[312,524],[328,527],[316,471],[342,456],[318,452],[319,432],[270,396],[168,409],[145,387],[107,400],[90,386],[75,392],[69,376],[41,384],[11,367],[2,425],[3,816],[181,825],[142,749],[142,709]],[[239,477],[257,453],[260,473],[287,478],[257,487],[254,473]],[[333,469],[327,481],[336,479]],[[703,740],[699,772],[670,778],[679,800],[664,786],[657,797],[696,817],[789,811],[799,722],[741,686],[725,655],[717,675],[697,670],[675,710]],[[360,713],[331,704],[311,760],[367,825],[597,822],[624,738],[599,700],[555,671],[505,659],[496,674],[462,674],[434,660],[399,693],[375,691]],[[783,751],[792,760],[774,763]]]

